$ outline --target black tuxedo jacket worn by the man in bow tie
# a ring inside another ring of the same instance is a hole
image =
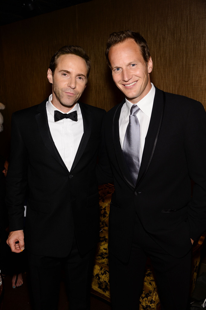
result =
[[[27,249],[36,255],[64,257],[75,233],[80,253],[85,254],[99,236],[95,166],[105,111],[79,102],[84,134],[68,171],[50,134],[46,101],[12,115],[6,177],[10,231],[23,229],[28,190]]]

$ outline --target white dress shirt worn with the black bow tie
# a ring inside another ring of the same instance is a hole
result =
[[[51,103],[51,100],[52,95],[49,96],[49,100],[46,103],[49,129],[52,139],[54,140],[54,144],[58,149],[63,162],[67,166],[67,169],[70,171],[79,147],[79,143],[84,133],[81,109],[79,104],[76,103],[75,106],[68,112],[71,113],[73,111],[77,111],[77,122],[74,122],[69,118],[64,118],[58,122],[54,122],[54,111],[62,111],[55,108]]]

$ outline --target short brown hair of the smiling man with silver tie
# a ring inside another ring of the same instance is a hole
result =
[[[113,32],[109,35],[109,38],[107,39],[107,48],[105,51],[105,56],[106,56],[107,64],[110,69],[111,69],[111,64],[109,62],[109,57],[108,57],[110,48],[113,45],[124,42],[127,39],[133,39],[137,43],[137,45],[139,45],[144,61],[148,63],[150,53],[149,53],[149,47],[147,45],[146,40],[141,36],[139,32],[125,30],[125,31]]]

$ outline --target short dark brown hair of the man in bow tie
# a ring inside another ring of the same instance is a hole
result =
[[[80,46],[74,46],[74,45],[65,45],[62,48],[60,48],[51,58],[50,64],[49,64],[49,69],[52,72],[52,75],[54,75],[54,70],[57,67],[57,60],[61,55],[66,55],[66,54],[72,54],[79,56],[83,58],[86,62],[87,65],[87,78],[89,76],[90,68],[91,68],[91,61],[89,59],[89,56],[86,54],[86,51],[84,48]]]

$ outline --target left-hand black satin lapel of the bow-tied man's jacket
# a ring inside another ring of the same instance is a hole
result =
[[[65,166],[65,163],[62,160],[62,157],[60,156],[54,141],[52,139],[50,130],[49,130],[49,124],[48,124],[48,118],[46,113],[46,102],[48,99],[43,101],[41,104],[39,104],[37,108],[37,113],[35,115],[36,122],[38,125],[38,129],[41,135],[41,138],[46,146],[46,148],[49,150],[50,154],[56,159],[56,161],[62,165],[63,168],[65,168],[67,171],[67,167]]]

